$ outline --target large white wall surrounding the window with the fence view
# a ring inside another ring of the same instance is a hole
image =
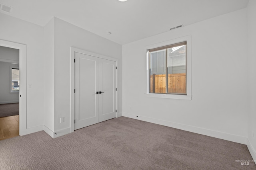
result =
[[[246,144],[246,25],[243,9],[123,45],[123,115]],[[192,100],[146,97],[145,46],[186,35]]]

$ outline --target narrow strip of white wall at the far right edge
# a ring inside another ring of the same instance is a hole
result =
[[[248,3],[248,145],[256,160],[256,1]]]

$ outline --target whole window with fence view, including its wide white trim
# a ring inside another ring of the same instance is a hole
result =
[[[146,95],[191,100],[191,36],[146,48]]]

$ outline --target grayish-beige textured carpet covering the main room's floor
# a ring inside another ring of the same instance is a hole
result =
[[[119,117],[52,139],[0,141],[1,170],[252,170],[246,145]]]

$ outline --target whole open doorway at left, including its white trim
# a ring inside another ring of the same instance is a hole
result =
[[[0,39],[0,64],[1,140],[26,135],[26,45]]]

